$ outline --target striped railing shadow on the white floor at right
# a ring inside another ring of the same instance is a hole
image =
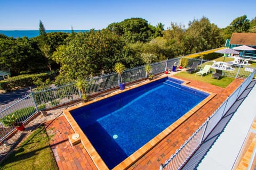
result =
[[[249,86],[244,90],[244,92],[239,96],[233,106],[229,109],[229,111],[221,118],[220,122],[215,126],[213,131],[209,134],[209,136],[205,139],[202,145],[196,150],[195,154],[188,160],[188,162],[182,167],[182,169],[196,169],[204,159],[204,156],[213,146],[213,143],[219,138],[220,134],[225,129],[226,125],[230,121],[231,117],[235,114],[237,108],[244,101],[246,96],[250,93],[251,89],[255,85],[256,80],[252,81]]]

